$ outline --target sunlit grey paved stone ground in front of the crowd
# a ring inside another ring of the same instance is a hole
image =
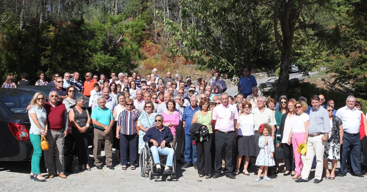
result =
[[[296,183],[291,176],[283,176],[283,173],[273,174],[270,176],[271,181],[255,182],[255,166],[249,170],[250,176],[240,174],[236,179],[225,176],[205,179],[198,176],[194,167],[181,169],[179,163],[173,180],[167,176],[149,180],[148,177],[140,176],[138,167],[136,170],[122,170],[115,160],[113,163],[115,170],[106,167],[98,170],[92,166],[91,171],[66,173],[66,179],[55,177],[45,182],[35,182],[29,178],[30,162],[0,162],[0,191],[364,191],[367,186],[367,177],[354,177],[349,173],[333,181],[324,179],[320,184],[314,184],[315,170],[311,171],[311,180],[306,183]],[[41,165],[41,172],[46,174],[43,162]]]

